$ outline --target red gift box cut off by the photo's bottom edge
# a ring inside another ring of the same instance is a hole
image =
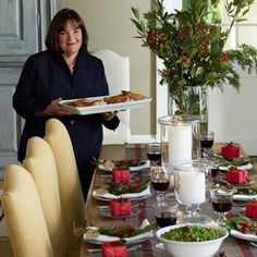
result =
[[[119,242],[108,242],[101,244],[103,257],[126,257],[126,245]]]

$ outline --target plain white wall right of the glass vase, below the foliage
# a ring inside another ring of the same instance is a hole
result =
[[[209,93],[209,130],[216,142],[240,143],[248,155],[257,155],[257,79],[256,75],[242,75],[237,93],[225,86]]]

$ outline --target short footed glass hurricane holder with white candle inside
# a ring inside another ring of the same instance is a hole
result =
[[[184,222],[211,222],[209,216],[200,212],[200,206],[210,198],[210,162],[193,160],[173,166],[175,199],[185,207]]]

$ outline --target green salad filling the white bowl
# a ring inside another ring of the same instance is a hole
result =
[[[211,229],[201,225],[184,225],[161,234],[164,240],[179,242],[204,242],[220,238],[224,232],[219,229]]]

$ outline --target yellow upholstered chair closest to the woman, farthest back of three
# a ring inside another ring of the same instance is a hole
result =
[[[73,224],[84,225],[86,217],[75,156],[66,127],[59,120],[47,121],[45,139],[51,146],[57,161],[68,247],[72,249],[77,244],[77,237],[73,235]]]

